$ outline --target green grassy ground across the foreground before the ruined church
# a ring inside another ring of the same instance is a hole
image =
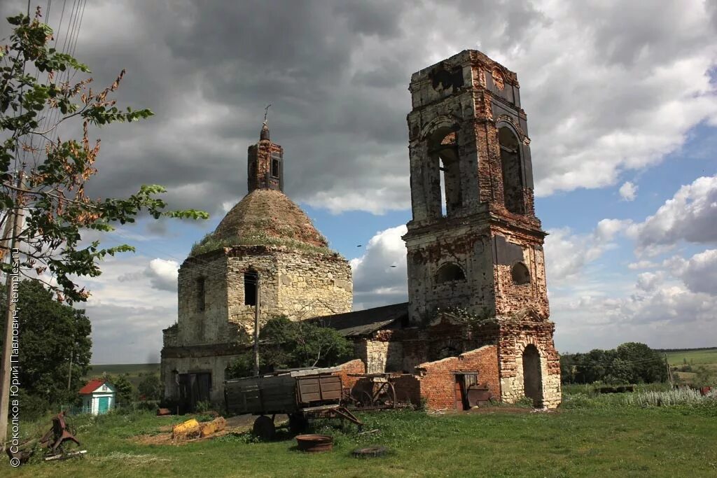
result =
[[[582,405],[580,404],[582,403]],[[9,477],[713,477],[717,475],[717,406],[585,406],[554,413],[429,415],[379,411],[353,426],[315,431],[336,439],[333,451],[304,454],[290,436],[269,443],[229,435],[181,446],[146,445],[136,436],[157,434],[179,417],[110,414],[75,419],[87,449],[84,459],[31,462]],[[186,419],[186,417],[184,417]],[[27,431],[32,431],[26,427]],[[390,454],[356,459],[358,446],[387,446]],[[7,474],[5,474],[7,470]]]

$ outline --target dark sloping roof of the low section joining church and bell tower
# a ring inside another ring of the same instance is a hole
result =
[[[370,335],[384,328],[396,328],[408,318],[408,302],[384,305],[372,309],[356,310],[343,314],[313,317],[323,327],[337,330],[344,337]]]

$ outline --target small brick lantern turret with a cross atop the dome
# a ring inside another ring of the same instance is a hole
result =
[[[247,192],[255,189],[284,190],[284,148],[271,142],[266,114],[259,142],[249,147],[247,160]]]

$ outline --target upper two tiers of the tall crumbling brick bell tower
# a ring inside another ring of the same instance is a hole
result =
[[[409,90],[410,322],[450,307],[547,322],[546,234],[516,74],[465,50],[414,73]]]

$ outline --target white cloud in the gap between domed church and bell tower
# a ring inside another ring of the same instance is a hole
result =
[[[406,231],[402,225],[377,232],[364,255],[351,260],[356,310],[407,300]]]

